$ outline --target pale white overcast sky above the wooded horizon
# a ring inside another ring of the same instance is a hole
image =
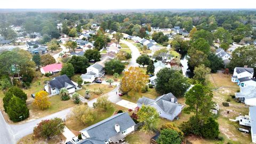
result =
[[[256,0],[1,0],[0,9],[256,9]]]

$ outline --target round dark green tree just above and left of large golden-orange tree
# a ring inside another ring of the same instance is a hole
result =
[[[114,73],[121,74],[125,65],[117,59],[110,60],[105,63],[105,70],[107,74],[113,75]]]

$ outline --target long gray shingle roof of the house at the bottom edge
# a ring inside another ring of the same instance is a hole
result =
[[[88,139],[90,142],[93,143],[96,141],[95,143],[103,143],[117,134],[115,124],[120,126],[120,132],[123,132],[129,127],[135,125],[128,113],[120,113],[104,119],[99,123],[86,127],[81,132],[86,131],[90,135],[91,138]],[[82,143],[87,144],[89,143],[87,142],[88,140],[85,140]]]

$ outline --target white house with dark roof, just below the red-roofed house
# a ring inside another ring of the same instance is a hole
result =
[[[47,82],[44,86],[44,90],[52,95],[60,93],[60,89],[66,88],[68,93],[74,93],[76,90],[76,85],[68,78],[67,75],[61,75],[52,78],[51,81]]]

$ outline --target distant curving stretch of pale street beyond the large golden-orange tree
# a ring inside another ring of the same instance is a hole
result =
[[[120,42],[129,46],[132,51],[132,59],[130,60],[128,69],[130,67],[139,67],[139,63],[136,62],[136,59],[140,56],[140,51],[137,49],[137,47],[134,46],[132,43],[124,41],[124,40],[121,40]]]

